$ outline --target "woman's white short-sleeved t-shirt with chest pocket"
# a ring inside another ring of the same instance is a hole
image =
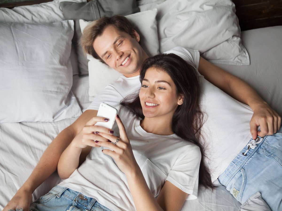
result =
[[[187,199],[196,199],[201,162],[199,147],[176,134],[147,133],[133,112],[121,105],[116,108],[153,196],[158,196],[164,182],[169,181],[190,194]],[[119,136],[116,123],[113,131]],[[92,197],[111,210],[136,210],[125,174],[110,156],[102,153],[103,149],[107,148],[93,147],[81,166],[59,185]]]

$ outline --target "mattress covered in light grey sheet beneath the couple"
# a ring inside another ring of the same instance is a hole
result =
[[[248,30],[241,33],[250,55],[248,66],[219,65],[248,82],[270,106],[282,115],[282,26]],[[72,92],[81,110],[89,105],[89,78],[73,76]],[[58,122],[20,122],[0,124],[0,210],[28,178],[50,142],[76,118]],[[47,193],[58,184],[52,174],[33,193],[33,198]],[[240,203],[224,188],[214,191],[199,187],[198,198],[186,201],[182,210],[239,210]]]

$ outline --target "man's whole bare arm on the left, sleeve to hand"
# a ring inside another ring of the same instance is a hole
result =
[[[23,186],[18,190],[16,195],[11,199],[4,210],[16,210],[16,206],[23,207],[23,210],[29,210],[29,205],[32,200],[32,193],[41,185],[54,171],[57,169],[58,161],[61,154],[70,144],[70,142],[80,135],[81,129],[93,117],[97,116],[97,110],[86,110],[80,117],[69,127],[65,128],[58,136],[50,143],[38,164],[32,171],[31,175],[25,181]],[[80,164],[85,160],[89,149],[82,151],[80,155]]]

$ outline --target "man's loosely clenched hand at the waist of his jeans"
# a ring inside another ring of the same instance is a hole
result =
[[[253,109],[254,114],[250,121],[250,131],[252,138],[256,139],[257,135],[263,137],[272,135],[280,129],[281,116],[279,116],[268,104],[261,103]],[[260,125],[261,131],[257,131],[257,126]]]

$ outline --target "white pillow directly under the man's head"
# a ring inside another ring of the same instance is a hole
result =
[[[136,31],[140,34],[140,45],[149,56],[159,53],[156,15],[157,9],[153,9],[125,16],[133,23]],[[91,22],[80,19],[79,23],[82,33],[85,26]],[[111,82],[116,81],[122,74],[100,62],[98,59],[94,59],[91,55],[87,55],[87,59],[89,59],[89,100],[92,101],[100,91]]]

